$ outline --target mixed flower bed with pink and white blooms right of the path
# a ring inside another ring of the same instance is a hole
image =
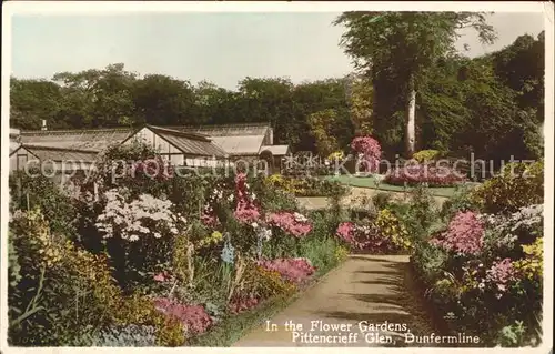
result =
[[[495,179],[467,198],[478,203],[461,204],[444,231],[416,245],[412,263],[427,287],[427,299],[448,324],[447,332],[477,335],[482,346],[537,345],[543,205],[526,201],[541,201],[535,193],[543,185],[514,176],[517,185],[511,188],[518,194],[504,195],[495,205],[480,203],[485,195],[502,195],[508,185],[502,183],[506,174]]]

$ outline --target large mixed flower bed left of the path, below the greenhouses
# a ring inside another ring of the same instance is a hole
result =
[[[11,211],[12,345],[181,346],[292,296],[344,259],[330,237],[335,219],[302,214],[262,178],[183,176],[172,166],[152,175],[158,156],[137,146],[103,159],[94,183],[57,196],[77,212],[74,233],[52,233],[40,209]],[[133,175],[111,179],[112,159],[135,161]],[[50,198],[41,185],[30,193]]]

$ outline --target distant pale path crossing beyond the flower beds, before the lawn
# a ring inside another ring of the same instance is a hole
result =
[[[351,186],[351,193],[343,198],[341,201],[344,206],[357,206],[361,204],[362,198],[372,198],[373,195],[384,192],[375,189]],[[405,198],[404,192],[387,192],[394,199],[402,201]],[[325,209],[330,204],[330,200],[326,196],[297,196],[296,198],[301,206],[309,210]],[[448,198],[446,196],[434,196],[437,206],[443,205]]]

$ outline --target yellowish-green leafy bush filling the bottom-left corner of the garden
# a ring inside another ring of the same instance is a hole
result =
[[[10,230],[22,273],[9,291],[11,343],[60,345],[109,321],[119,290],[105,256],[54,239],[40,210],[17,213]]]

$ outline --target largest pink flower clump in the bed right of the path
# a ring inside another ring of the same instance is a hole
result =
[[[478,254],[484,244],[484,224],[472,211],[458,212],[451,220],[442,239],[431,242],[452,252]]]

